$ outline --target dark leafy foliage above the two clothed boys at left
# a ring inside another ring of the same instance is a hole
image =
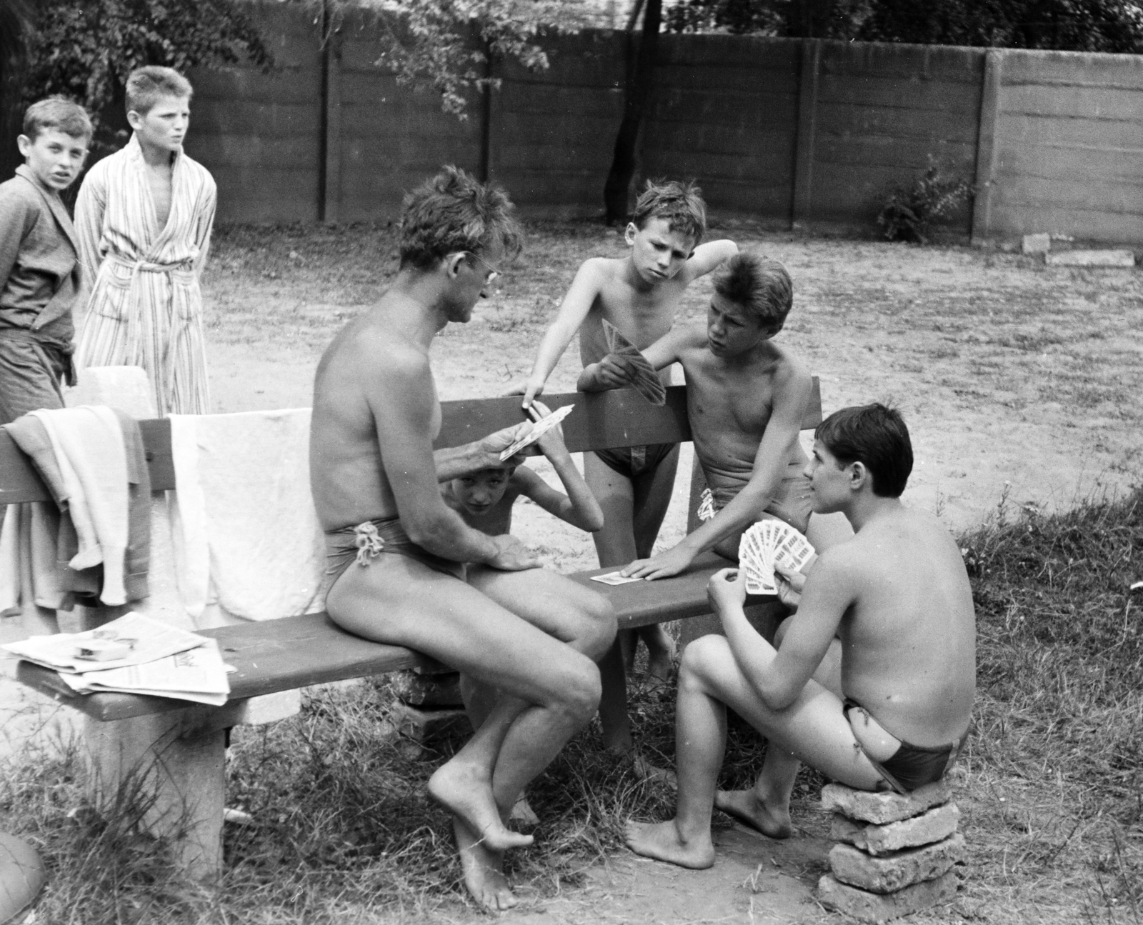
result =
[[[145,64],[185,71],[250,59],[269,69],[261,37],[231,0],[43,0],[29,39],[26,103],[62,94],[99,113]]]

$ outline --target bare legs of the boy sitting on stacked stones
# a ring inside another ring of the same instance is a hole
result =
[[[798,771],[794,753],[836,781],[862,790],[877,788],[880,775],[856,747],[837,695],[810,680],[790,707],[772,710],[740,670],[726,638],[704,636],[687,646],[679,670],[676,818],[657,824],[629,823],[628,845],[636,853],[682,867],[713,863],[710,824],[726,707],[770,743],[754,791],[761,797],[751,814],[757,828],[780,835],[790,827],[790,789]]]

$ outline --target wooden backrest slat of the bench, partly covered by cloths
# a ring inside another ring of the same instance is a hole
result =
[[[563,421],[563,439],[568,449],[673,444],[690,439],[687,423],[687,390],[672,385],[666,390],[666,404],[660,408],[629,389],[612,392],[563,392],[542,396],[552,410],[563,405],[576,406]],[[438,447],[459,446],[519,424],[525,420],[519,396],[474,398],[441,402],[441,429]],[[805,430],[822,421],[822,393],[814,377],[814,398],[801,422]],[[170,454],[170,422],[166,418],[139,421],[143,446],[151,472],[151,489],[175,487],[175,465]],[[0,428],[0,505],[25,501],[49,501],[47,487],[29,458],[8,432]]]

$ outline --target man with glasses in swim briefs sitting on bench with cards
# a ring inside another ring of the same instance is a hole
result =
[[[536,567],[510,535],[469,527],[439,483],[502,465],[529,423],[435,454],[441,413],[429,365],[434,335],[465,322],[520,248],[507,197],[446,168],[407,198],[401,262],[381,301],[318,365],[310,467],[327,535],[329,616],[350,632],[408,646],[462,672],[487,718],[429,782],[448,807],[465,884],[490,910],[515,904],[504,851],[531,837],[504,823],[528,781],[588,725],[594,661],[615,638],[601,596]]]

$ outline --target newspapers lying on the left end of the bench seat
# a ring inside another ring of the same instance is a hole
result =
[[[230,684],[215,640],[127,613],[98,629],[0,646],[59,672],[79,693],[118,691],[221,705]]]

